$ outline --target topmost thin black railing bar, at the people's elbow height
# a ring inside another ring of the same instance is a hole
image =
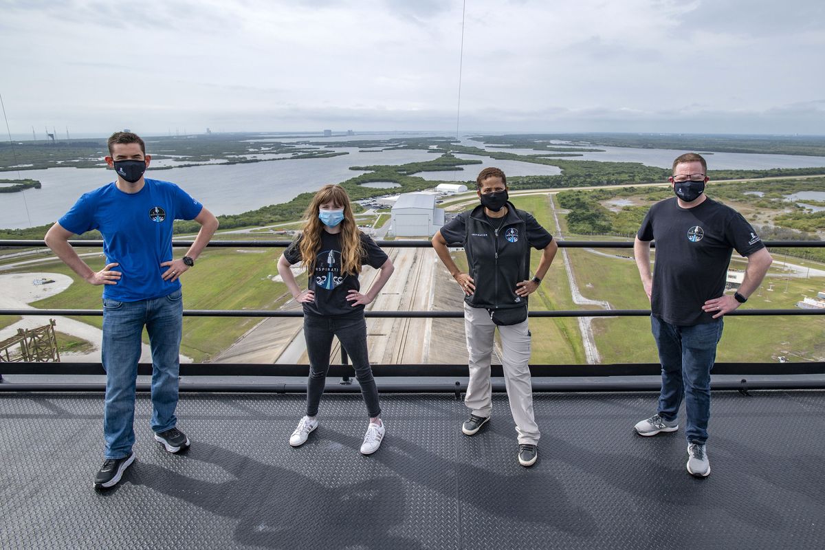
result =
[[[241,247],[241,248],[285,248],[292,241],[211,241],[207,247]],[[564,241],[557,240],[560,248],[633,248],[633,241]],[[68,242],[73,247],[103,247],[103,241]],[[429,240],[417,241],[376,241],[385,248],[429,248]],[[773,248],[819,248],[825,247],[825,241],[763,241],[766,247]],[[172,241],[172,247],[191,247],[192,241]],[[0,247],[45,247],[45,241],[35,240],[0,240]],[[656,242],[651,246],[656,247]]]

